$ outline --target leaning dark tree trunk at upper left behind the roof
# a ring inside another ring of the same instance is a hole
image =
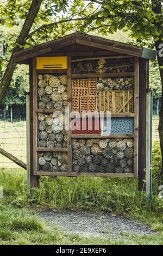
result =
[[[30,28],[33,25],[35,17],[37,16],[37,14],[40,10],[41,2],[42,2],[42,0],[33,0],[32,1],[32,4],[30,5],[26,20],[24,21],[24,25],[20,32],[20,35],[18,35],[18,38],[16,39],[16,44],[22,45],[22,46],[26,44],[27,36],[29,34]],[[12,75],[14,73],[15,66],[16,66],[16,64],[14,63],[14,59],[13,59],[13,53],[21,50],[18,45],[12,51],[9,63],[7,65],[7,69],[5,70],[2,80],[1,80],[0,103],[2,103],[5,92],[9,88],[11,80],[12,80]]]

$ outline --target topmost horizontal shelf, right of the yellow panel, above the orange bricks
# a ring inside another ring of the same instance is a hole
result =
[[[122,76],[133,76],[134,72],[115,72],[115,73],[92,73],[92,74],[72,74],[72,78],[87,78],[87,77],[122,77]]]

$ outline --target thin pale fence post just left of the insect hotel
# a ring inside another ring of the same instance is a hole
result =
[[[30,190],[30,126],[29,126],[29,96],[26,96],[26,152],[27,152],[27,190]]]

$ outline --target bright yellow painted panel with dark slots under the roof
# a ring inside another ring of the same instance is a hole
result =
[[[36,69],[67,69],[67,57],[37,57]]]

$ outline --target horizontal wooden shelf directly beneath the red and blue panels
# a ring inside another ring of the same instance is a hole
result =
[[[71,138],[97,138],[97,139],[106,139],[106,138],[134,138],[134,134],[111,134],[102,136],[101,134],[72,134]]]

